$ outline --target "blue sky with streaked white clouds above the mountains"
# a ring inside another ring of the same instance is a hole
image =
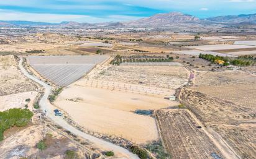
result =
[[[0,20],[124,22],[158,13],[255,14],[256,0],[0,0]]]

